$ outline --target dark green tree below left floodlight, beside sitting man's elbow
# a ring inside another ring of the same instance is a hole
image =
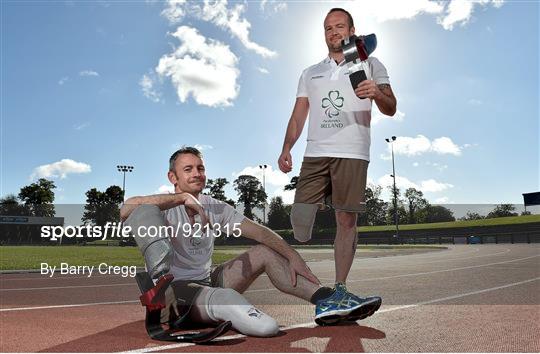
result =
[[[110,186],[105,192],[92,188],[86,192],[86,205],[82,217],[84,224],[105,226],[120,220],[120,204],[124,192],[119,186]]]

